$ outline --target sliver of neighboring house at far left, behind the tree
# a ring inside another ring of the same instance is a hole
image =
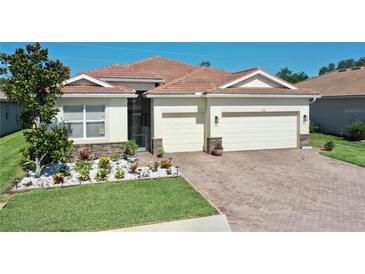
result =
[[[20,130],[20,107],[8,101],[0,90],[0,136]]]

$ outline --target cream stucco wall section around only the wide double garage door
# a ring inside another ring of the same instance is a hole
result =
[[[208,98],[207,109],[209,109],[209,130],[206,137],[221,137],[219,122],[214,123],[215,116],[219,121],[222,119],[222,112],[298,112],[299,133],[309,133],[309,99],[287,99],[287,98]],[[307,115],[308,120],[304,122],[303,116]]]

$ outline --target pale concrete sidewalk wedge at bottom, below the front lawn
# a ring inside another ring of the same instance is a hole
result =
[[[153,225],[134,226],[109,232],[231,232],[225,215],[180,220]]]

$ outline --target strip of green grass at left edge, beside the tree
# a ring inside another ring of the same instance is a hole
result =
[[[19,152],[24,146],[23,131],[0,138],[0,193],[9,190],[14,179],[24,174],[20,167]]]

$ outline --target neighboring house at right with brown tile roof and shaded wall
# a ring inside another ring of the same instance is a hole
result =
[[[343,135],[354,119],[365,121],[365,67],[329,72],[297,86],[321,93],[310,105],[311,120],[321,132]]]

